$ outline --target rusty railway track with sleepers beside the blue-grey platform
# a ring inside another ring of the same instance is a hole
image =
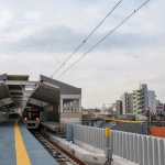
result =
[[[55,142],[51,141],[45,134],[40,131],[33,131],[32,134],[47,150],[47,152],[58,162],[59,165],[87,165],[68,151],[61,147]]]

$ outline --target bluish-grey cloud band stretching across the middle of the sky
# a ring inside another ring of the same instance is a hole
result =
[[[96,33],[94,36],[85,43],[81,47],[81,52],[90,50],[96,43],[98,43],[106,33]],[[66,53],[74,52],[80,43],[88,36],[88,33],[82,33],[80,31],[74,31],[66,26],[51,26],[42,31],[29,34],[19,41],[10,42],[6,41],[0,45],[1,53],[21,53],[21,52],[47,52],[47,53]],[[95,51],[112,51],[117,48],[144,48],[150,46],[160,46],[164,38],[162,33],[158,35],[147,35],[144,33],[120,33],[114,32],[114,34],[108,36]],[[85,48],[84,48],[85,47]],[[139,57],[138,55],[133,55]]]

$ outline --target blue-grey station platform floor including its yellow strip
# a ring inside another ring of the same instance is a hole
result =
[[[23,148],[24,146],[24,148]],[[0,123],[0,165],[58,165],[50,153],[21,123]]]

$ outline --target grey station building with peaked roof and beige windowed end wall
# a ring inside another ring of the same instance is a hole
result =
[[[29,80],[29,75],[0,75],[0,110],[23,111],[37,107],[41,121],[81,123],[81,89],[41,75]]]

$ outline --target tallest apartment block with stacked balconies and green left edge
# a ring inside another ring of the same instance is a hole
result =
[[[147,86],[140,85],[139,90],[133,90],[133,114],[138,112],[145,112],[147,107]]]

